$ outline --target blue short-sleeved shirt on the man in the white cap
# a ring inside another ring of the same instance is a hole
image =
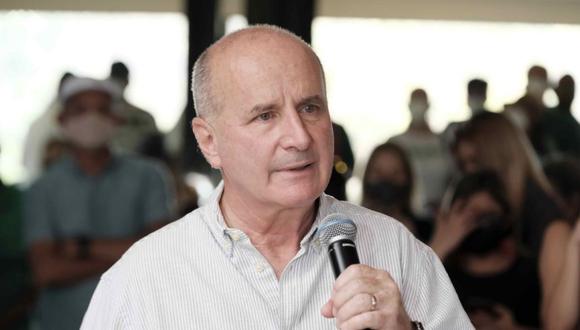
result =
[[[85,174],[72,157],[54,164],[26,194],[28,246],[79,236],[127,238],[169,220],[172,194],[165,173],[150,161],[113,156],[98,175]],[[78,329],[99,276],[41,291],[42,329]]]

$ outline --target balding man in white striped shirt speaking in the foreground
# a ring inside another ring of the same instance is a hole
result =
[[[223,183],[102,276],[84,329],[471,328],[429,248],[398,222],[322,193],[332,125],[307,44],[250,27],[193,70],[193,132]],[[358,225],[365,265],[335,282],[315,232],[336,212]]]

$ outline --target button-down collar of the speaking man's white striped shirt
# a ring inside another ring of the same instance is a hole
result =
[[[221,181],[208,199],[205,213],[206,217],[204,217],[204,219],[206,219],[205,222],[215,240],[222,247],[222,249],[231,256],[236,242],[247,240],[248,237],[241,230],[227,226],[219,205],[223,190],[224,182]],[[314,218],[314,222],[312,223],[310,230],[308,233],[306,233],[306,235],[304,235],[302,241],[300,241],[300,247],[305,250],[312,248],[315,252],[321,252],[322,248],[318,242],[316,233],[318,226],[322,222],[322,219],[331,213],[330,209],[332,204],[332,197],[322,193],[322,195],[316,200],[316,203],[318,204],[316,217]]]

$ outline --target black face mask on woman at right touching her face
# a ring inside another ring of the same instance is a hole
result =
[[[495,250],[510,235],[507,220],[498,213],[486,213],[476,220],[478,227],[461,243],[460,251],[483,256]]]

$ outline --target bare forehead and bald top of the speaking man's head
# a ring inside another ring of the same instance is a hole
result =
[[[287,96],[294,102],[312,95],[326,97],[320,62],[297,37],[271,28],[230,36],[207,53],[216,114],[224,108],[249,112],[256,105],[279,103],[282,90],[290,92]]]

